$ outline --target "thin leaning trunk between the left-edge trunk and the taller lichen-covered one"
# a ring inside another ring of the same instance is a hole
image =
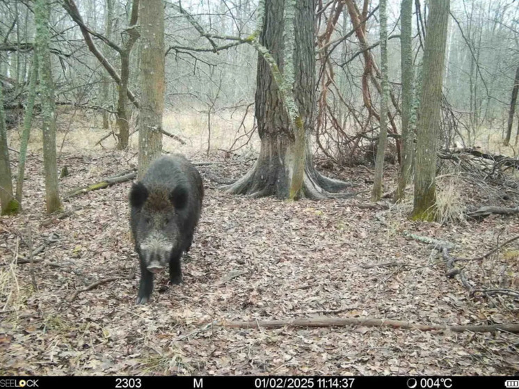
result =
[[[31,70],[31,83],[29,84],[29,97],[24,116],[24,130],[20,140],[20,150],[18,159],[18,178],[16,182],[16,200],[22,205],[24,195],[25,159],[27,155],[27,145],[31,135],[31,122],[33,120],[34,100],[36,97],[36,84],[38,82],[38,55],[33,55],[33,68]]]

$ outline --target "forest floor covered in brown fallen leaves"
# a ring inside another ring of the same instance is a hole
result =
[[[156,276],[135,305],[138,258],[129,233],[131,182],[65,200],[49,221],[37,154],[30,154],[24,213],[0,219],[0,374],[496,375],[519,372],[519,335],[419,331],[388,326],[227,328],[211,323],[369,317],[413,324],[518,323],[517,297],[470,296],[447,278],[441,255],[408,233],[449,241],[475,257],[519,234],[517,216],[418,223],[410,203],[365,209],[365,166],[321,170],[356,186],[347,200],[294,203],[231,196],[211,176],[240,177],[254,158],[191,153],[205,200],[182,285]],[[17,155],[12,153],[13,172]],[[136,152],[66,152],[61,193],[136,166]],[[394,186],[396,168],[385,173]],[[463,188],[474,203],[476,193]],[[477,205],[477,204],[476,204]],[[500,204],[494,204],[500,205]],[[29,229],[35,290],[28,257]],[[519,286],[519,241],[462,262],[474,287]],[[112,279],[112,280],[109,280]],[[99,280],[108,280],[75,294]]]

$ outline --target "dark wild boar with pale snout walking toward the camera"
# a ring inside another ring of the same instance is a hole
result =
[[[180,154],[155,159],[141,182],[131,186],[131,232],[141,262],[137,303],[150,299],[152,271],[166,264],[171,283],[182,283],[180,257],[191,248],[203,196],[200,173]]]

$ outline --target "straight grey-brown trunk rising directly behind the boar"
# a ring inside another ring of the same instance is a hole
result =
[[[141,1],[141,104],[138,113],[138,178],[162,150],[164,108],[164,4]]]

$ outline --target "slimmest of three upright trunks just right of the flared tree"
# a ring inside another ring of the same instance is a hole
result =
[[[381,19],[381,133],[378,136],[378,147],[375,159],[375,177],[372,200],[382,197],[382,177],[384,170],[385,145],[388,142],[388,1],[381,0],[378,12]]]

